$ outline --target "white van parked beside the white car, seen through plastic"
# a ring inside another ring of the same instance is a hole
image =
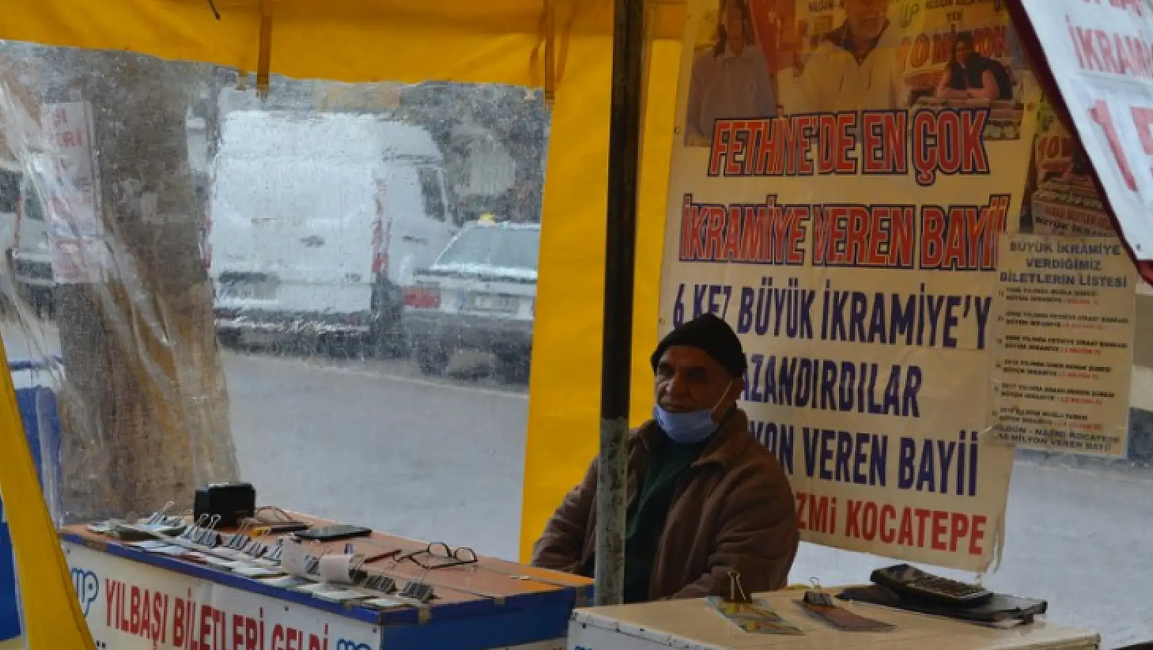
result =
[[[369,115],[233,112],[204,247],[218,332],[383,343],[399,331],[401,287],[454,232],[443,157],[424,129]]]

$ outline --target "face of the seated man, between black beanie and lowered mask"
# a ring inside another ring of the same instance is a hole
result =
[[[713,409],[717,417],[737,401],[743,383],[704,350],[672,346],[656,365],[656,402],[670,413]]]

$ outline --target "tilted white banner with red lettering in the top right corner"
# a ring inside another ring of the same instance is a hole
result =
[[[1019,3],[1125,241],[1153,262],[1153,5]]]

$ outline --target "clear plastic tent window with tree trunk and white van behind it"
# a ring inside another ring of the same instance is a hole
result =
[[[507,530],[543,97],[273,77],[261,98],[254,81],[0,44],[2,334],[56,400],[59,428],[40,409],[31,437],[54,519],[190,508],[197,486],[243,479],[262,504],[416,537],[462,511],[461,530]],[[474,418],[493,449],[445,452]],[[435,491],[429,516],[414,471],[409,504],[379,507],[390,476],[437,464],[496,478],[461,502]],[[500,530],[453,541],[515,557]]]

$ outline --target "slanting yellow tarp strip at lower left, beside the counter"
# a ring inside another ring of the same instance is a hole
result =
[[[5,368],[8,353],[0,338]],[[24,425],[16,407],[16,390],[10,372],[0,388],[0,493],[3,494],[8,529],[16,555],[16,575],[24,611],[24,638],[29,650],[88,650],[95,647],[80,602],[71,589],[71,570],[60,550],[52,516],[40,494],[36,464],[24,437]]]

